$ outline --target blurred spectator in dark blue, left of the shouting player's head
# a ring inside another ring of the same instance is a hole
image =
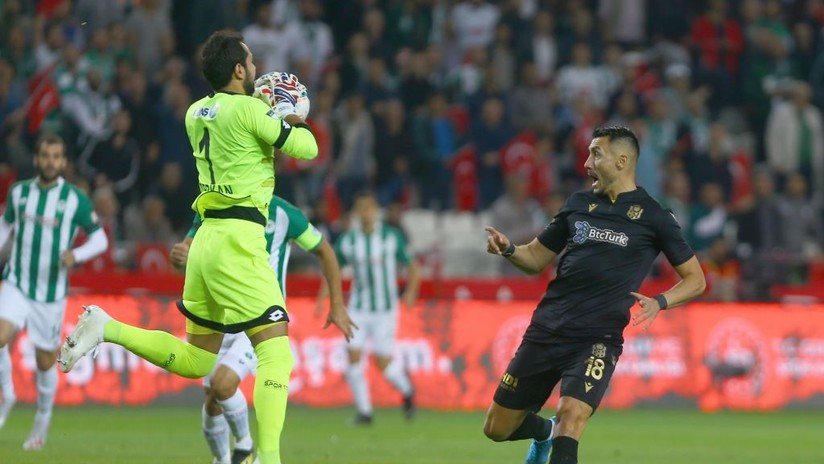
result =
[[[490,98],[484,102],[481,119],[473,127],[471,138],[478,158],[479,207],[486,209],[503,192],[501,154],[499,150],[515,135],[504,119],[503,102]]]

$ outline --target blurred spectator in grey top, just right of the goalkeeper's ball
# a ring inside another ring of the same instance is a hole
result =
[[[362,95],[346,97],[336,110],[335,124],[340,137],[335,158],[338,194],[348,209],[355,194],[368,187],[375,175],[375,127]]]

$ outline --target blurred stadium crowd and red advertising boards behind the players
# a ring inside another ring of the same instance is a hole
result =
[[[586,147],[603,123],[639,134],[638,182],[673,209],[709,284],[649,332],[629,329],[605,406],[821,406],[824,2],[2,0],[0,200],[32,175],[37,135],[57,132],[66,177],[93,198],[114,244],[73,275],[69,324],[94,301],[182,336],[169,303],[182,277],[167,254],[197,185],[183,115],[208,92],[198,46],[224,27],[244,34],[261,72],[293,71],[309,88],[320,155],[279,160],[277,193],[334,240],[353,194],[371,186],[409,238],[425,282],[402,314],[399,356],[423,406],[475,412],[469,443],[482,440],[477,411],[550,277],[485,255],[483,226],[531,239],[586,186]],[[343,340],[319,330],[318,271],[294,251],[293,403],[348,404]],[[643,291],[674,277],[655,266]],[[13,359],[32,401],[25,334]],[[378,377],[378,403],[398,404]],[[162,409],[199,394],[118,350],[60,382],[62,405]],[[297,423],[316,417],[296,411]],[[760,420],[723,417],[744,429]]]

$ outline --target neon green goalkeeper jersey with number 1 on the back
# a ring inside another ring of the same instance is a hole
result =
[[[192,209],[252,206],[268,217],[275,188],[274,148],[300,159],[318,149],[308,126],[292,127],[247,95],[217,92],[194,102],[186,133],[197,165],[200,195]]]

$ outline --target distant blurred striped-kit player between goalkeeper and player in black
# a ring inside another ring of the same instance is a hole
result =
[[[347,347],[349,367],[345,375],[355,397],[356,425],[372,423],[372,403],[362,361],[367,340],[371,341],[383,376],[403,395],[404,414],[411,419],[415,413],[412,382],[392,354],[398,326],[398,267],[406,266],[408,271],[406,291],[400,297],[407,308],[415,305],[420,274],[406,251],[401,231],[381,222],[378,214],[374,193],[360,193],[355,198],[353,227],[335,244],[341,265],[351,266],[354,271],[349,310],[359,330]]]

